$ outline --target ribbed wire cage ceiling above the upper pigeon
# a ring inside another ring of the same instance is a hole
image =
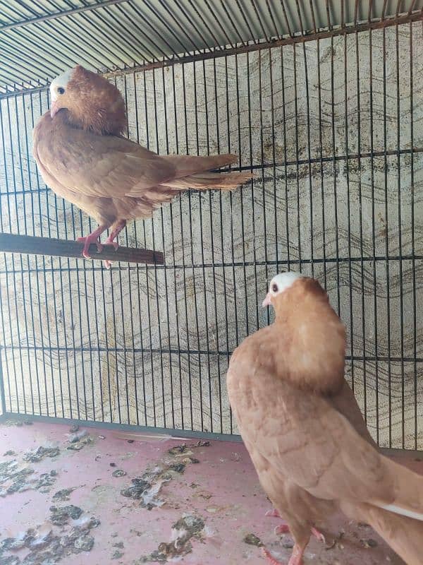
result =
[[[423,0],[0,0],[0,93],[403,13]]]

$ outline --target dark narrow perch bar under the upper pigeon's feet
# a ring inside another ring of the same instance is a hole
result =
[[[30,255],[50,255],[55,257],[75,257],[82,259],[83,243],[68,241],[68,239],[50,239],[49,237],[34,237],[31,235],[0,233],[0,251],[6,253],[24,253]],[[125,261],[126,263],[164,264],[161,251],[137,249],[135,247],[104,245],[99,253],[95,244],[90,245],[92,259],[109,259],[109,261]]]

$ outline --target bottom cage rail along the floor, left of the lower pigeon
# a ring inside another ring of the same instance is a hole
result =
[[[34,422],[46,422],[47,424],[68,424],[74,425],[78,424],[82,427],[99,428],[99,429],[110,429],[114,430],[125,430],[131,434],[136,432],[147,432],[148,434],[168,434],[171,436],[180,436],[186,439],[214,439],[217,441],[235,441],[240,443],[243,440],[241,436],[235,434],[217,434],[215,432],[194,432],[190,429],[178,429],[178,428],[159,428],[159,427],[149,427],[149,426],[137,426],[136,424],[115,424],[114,422],[100,422],[99,420],[71,420],[71,418],[59,418],[52,416],[40,416],[37,414],[31,414],[30,412],[6,412],[0,416],[0,422],[5,420],[16,420],[18,422],[23,422],[25,420],[31,420]],[[137,441],[135,439],[135,441]],[[178,441],[178,439],[168,441]],[[179,441],[180,443],[180,441]]]

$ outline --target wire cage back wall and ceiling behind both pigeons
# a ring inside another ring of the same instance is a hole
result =
[[[78,63],[121,90],[131,139],[255,173],[125,230],[164,266],[2,254],[3,412],[236,434],[228,359],[292,268],[347,326],[376,441],[423,448],[422,5],[1,1],[1,232],[90,228],[32,160],[47,85]]]

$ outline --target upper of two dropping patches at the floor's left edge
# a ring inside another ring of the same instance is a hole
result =
[[[14,459],[0,463],[0,496],[25,490],[49,492],[56,480],[56,471],[44,472],[39,477],[34,476],[34,473],[34,469],[23,467]]]

